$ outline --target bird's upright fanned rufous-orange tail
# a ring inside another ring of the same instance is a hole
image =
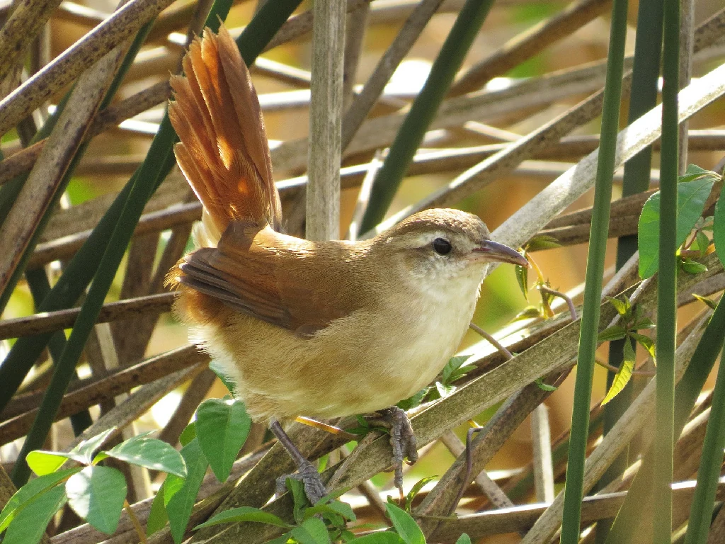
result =
[[[174,75],[169,118],[181,142],[179,168],[204,205],[194,231],[198,247],[214,247],[231,221],[281,226],[281,204],[260,103],[249,70],[222,26],[207,28]]]

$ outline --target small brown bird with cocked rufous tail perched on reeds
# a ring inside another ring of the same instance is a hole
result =
[[[415,441],[405,413],[385,409],[453,355],[486,263],[526,260],[459,210],[426,210],[363,242],[282,234],[259,102],[225,28],[195,39],[183,68],[185,77],[171,79],[174,151],[204,213],[199,249],[167,279],[178,289],[175,311],[252,419],[268,422],[289,450],[313,503],[325,488],[279,421],[387,413],[402,485]]]

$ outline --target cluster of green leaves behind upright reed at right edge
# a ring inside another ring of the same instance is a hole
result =
[[[676,243],[681,247],[682,255],[681,267],[689,273],[703,272],[702,265],[694,263],[687,255],[694,247],[697,251],[696,255],[703,255],[709,246],[708,237],[704,234],[714,228],[713,236],[717,244],[718,237],[722,239],[722,234],[718,236],[718,224],[720,228],[725,228],[723,221],[708,221],[700,216],[703,213],[705,200],[710,195],[713,184],[721,181],[722,176],[711,170],[703,170],[699,166],[689,165],[684,176],[678,178],[677,184],[677,238]],[[716,207],[716,218],[718,216]],[[660,193],[653,194],[645,206],[642,207],[642,214],[639,216],[639,226],[637,228],[639,242],[639,276],[642,279],[652,276],[658,268],[659,255],[659,221],[660,221]],[[714,226],[714,227],[713,227]],[[695,228],[695,234],[687,241],[692,229]],[[725,243],[725,240],[723,240]],[[704,247],[703,247],[704,246]],[[684,255],[683,255],[684,253]]]

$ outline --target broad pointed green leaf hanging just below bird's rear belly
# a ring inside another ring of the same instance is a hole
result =
[[[241,400],[207,399],[196,410],[196,437],[220,482],[229,477],[251,425]]]

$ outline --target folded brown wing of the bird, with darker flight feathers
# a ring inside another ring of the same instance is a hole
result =
[[[218,247],[185,257],[179,281],[241,313],[309,337],[357,309],[355,297],[344,296],[350,286],[330,280],[339,275],[330,260],[316,254],[318,244],[232,223]]]

